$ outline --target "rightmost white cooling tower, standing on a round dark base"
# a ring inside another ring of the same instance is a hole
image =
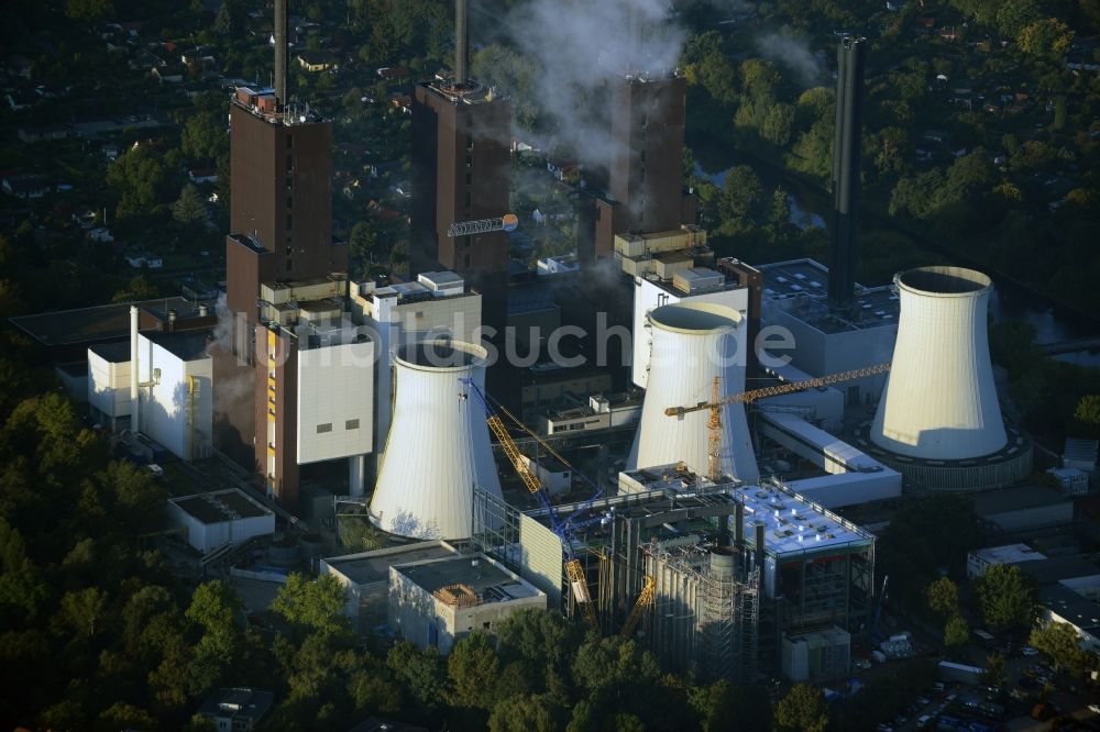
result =
[[[871,440],[934,461],[1000,451],[1008,437],[986,330],[992,281],[961,267],[919,267],[894,275],[894,284],[898,342]]]

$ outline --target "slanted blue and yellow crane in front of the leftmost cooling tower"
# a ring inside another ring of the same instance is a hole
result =
[[[588,583],[584,574],[584,566],[573,553],[572,540],[573,534],[578,531],[603,519],[603,517],[581,518],[582,513],[587,513],[587,510],[591,509],[595,500],[600,498],[602,491],[597,490],[596,495],[590,498],[580,509],[562,520],[554,510],[553,504],[550,502],[550,497],[547,495],[546,489],[539,481],[538,476],[536,476],[531,472],[530,467],[528,467],[527,461],[524,458],[522,453],[519,452],[519,447],[516,446],[516,441],[512,439],[512,435],[508,433],[508,429],[505,426],[501,415],[490,403],[488,397],[482,392],[481,388],[473,381],[473,379],[462,379],[462,382],[477,397],[482,408],[485,410],[485,421],[487,422],[490,430],[493,431],[493,434],[496,435],[497,441],[501,443],[501,447],[504,450],[504,454],[512,463],[512,467],[515,468],[519,478],[524,481],[524,485],[527,486],[527,490],[530,491],[530,493],[538,500],[542,509],[546,510],[547,515],[550,519],[550,530],[553,531],[559,539],[561,539],[561,545],[565,554],[565,576],[569,578],[569,586],[573,590],[573,598],[576,600],[578,606],[580,606],[581,612],[584,614],[585,622],[587,622],[593,630],[598,632],[600,621],[596,618],[595,603],[592,601],[591,592],[588,592]],[[502,410],[504,408],[502,407]],[[504,411],[507,413],[507,410]],[[542,444],[546,445],[546,443]],[[546,446],[549,448],[549,445]],[[559,459],[562,459],[557,455],[557,453],[554,453],[554,455]],[[564,463],[564,461],[562,462]],[[565,463],[565,465],[569,464]],[[573,473],[575,473],[575,470],[573,470]]]

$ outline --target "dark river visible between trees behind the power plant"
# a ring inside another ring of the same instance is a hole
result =
[[[796,179],[770,179],[766,168],[756,165],[754,168],[765,186],[782,184],[790,191],[788,202],[791,206],[791,223],[800,229],[825,226],[829,202],[823,191],[804,184],[799,185],[802,181]],[[704,171],[698,164],[695,165],[695,175],[706,178],[718,188],[724,186],[728,171],[727,168],[712,174]],[[991,276],[994,290],[989,301],[989,311],[994,321],[1018,320],[1030,323],[1035,329],[1037,343],[1060,343],[1100,333],[1100,321],[1059,306],[1018,282],[999,277],[996,273]],[[877,282],[866,284],[873,286]],[[1097,350],[1059,354],[1055,358],[1080,366],[1100,367],[1100,351]]]

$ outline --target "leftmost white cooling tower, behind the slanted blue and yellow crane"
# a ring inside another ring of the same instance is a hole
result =
[[[459,341],[403,346],[394,357],[394,414],[371,522],[417,539],[465,539],[473,485],[501,495],[481,402],[461,379],[485,384],[485,348]]]

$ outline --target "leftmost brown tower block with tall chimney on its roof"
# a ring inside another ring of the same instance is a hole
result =
[[[213,436],[219,450],[255,469],[262,464],[256,445],[265,443],[256,437],[256,414],[266,413],[268,381],[257,376],[268,361],[266,335],[263,343],[256,339],[257,326],[266,330],[260,322],[261,286],[348,268],[346,247],[332,242],[332,123],[308,104],[289,101],[286,25],[286,0],[275,0],[275,87],[238,88],[229,114],[228,312],[220,317],[231,342],[213,353]],[[293,366],[293,359],[287,363]],[[294,403],[293,379],[278,393]],[[293,453],[286,455],[272,492],[293,504],[297,465]]]

